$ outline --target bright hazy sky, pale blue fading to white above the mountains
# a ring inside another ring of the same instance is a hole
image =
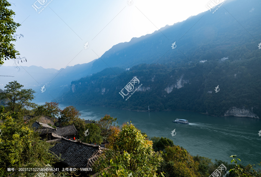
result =
[[[9,2],[14,3],[14,21],[21,24],[17,34],[24,36],[14,42],[20,56],[27,59],[19,64],[60,69],[88,63],[113,45],[204,12],[210,0]],[[13,63],[7,60],[4,66]]]

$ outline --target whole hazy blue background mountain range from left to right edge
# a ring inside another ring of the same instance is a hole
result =
[[[255,10],[252,10],[255,8]],[[43,69],[35,66],[23,67],[15,77],[1,77],[0,88],[17,80],[25,88],[37,91],[36,99],[54,100],[64,91],[71,89],[71,81],[97,73],[108,66],[131,68],[147,63],[169,63],[183,66],[187,62],[215,60],[229,56],[230,60],[247,59],[250,51],[257,49],[261,39],[261,3],[258,0],[226,1],[214,14],[206,11],[189,17],[172,26],[165,26],[152,34],[119,43],[106,51],[99,59],[87,64],[67,66],[65,69]],[[176,41],[177,47],[171,48]],[[1,75],[14,75],[13,67],[0,67]],[[117,73],[119,74],[119,73]],[[2,85],[1,85],[2,84]],[[45,85],[46,91],[41,93]]]

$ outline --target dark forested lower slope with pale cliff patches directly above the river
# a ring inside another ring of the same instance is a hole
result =
[[[119,68],[107,68],[73,81],[72,89],[59,102],[140,111],[148,111],[149,106],[151,111],[186,110],[218,116],[235,106],[261,117],[260,67],[261,57],[224,62],[217,59],[186,63],[182,67],[174,63],[140,64],[124,72]],[[123,98],[119,92],[123,89],[128,93],[124,86],[133,77],[139,80],[135,89],[142,86]]]

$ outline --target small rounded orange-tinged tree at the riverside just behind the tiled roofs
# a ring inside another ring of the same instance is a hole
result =
[[[64,110],[61,111],[62,122],[70,122],[75,121],[81,115],[80,111],[78,111],[74,106],[67,106]]]

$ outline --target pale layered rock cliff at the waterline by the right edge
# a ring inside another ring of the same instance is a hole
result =
[[[245,108],[240,109],[235,106],[226,111],[224,116],[249,117],[259,119],[259,117],[255,113],[253,113],[253,108],[251,110],[248,110]]]

